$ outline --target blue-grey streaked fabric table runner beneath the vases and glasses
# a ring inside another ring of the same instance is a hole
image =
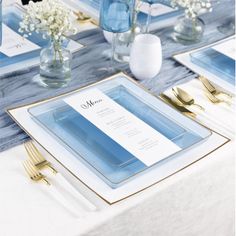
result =
[[[155,78],[142,81],[142,84],[154,94],[159,94],[173,84],[195,78],[196,75],[193,72],[175,62],[171,56],[225,38],[226,35],[218,32],[216,27],[227,18],[234,16],[234,9],[233,0],[221,0],[212,13],[202,16],[206,28],[204,38],[198,44],[183,46],[173,42],[170,27],[154,32],[161,38],[163,44],[163,66]],[[38,73],[38,67],[0,75],[0,151],[29,139],[5,112],[7,108],[53,97],[110,76],[108,72],[99,70],[108,66],[109,63],[109,58],[103,52],[109,50],[110,46],[105,42],[102,31],[89,30],[73,38],[86,47],[73,55],[73,79],[66,88],[47,89],[32,82],[33,76]],[[133,77],[128,64],[116,63],[115,67]]]

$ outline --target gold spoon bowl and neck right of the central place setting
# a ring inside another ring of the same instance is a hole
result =
[[[196,106],[198,108],[200,108],[202,111],[205,111],[205,109],[199,105],[195,103],[194,98],[188,94],[186,91],[184,91],[181,88],[172,88],[172,92],[174,93],[175,97],[181,102],[183,103],[183,105],[186,106]]]

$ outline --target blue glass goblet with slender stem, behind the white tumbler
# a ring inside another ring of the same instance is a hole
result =
[[[100,27],[112,32],[112,56],[114,62],[117,33],[130,30],[134,0],[103,0],[100,5]]]

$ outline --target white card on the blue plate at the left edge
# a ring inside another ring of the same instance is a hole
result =
[[[8,57],[14,57],[20,54],[40,49],[38,45],[17,34],[6,25],[2,25],[2,46],[0,52]]]

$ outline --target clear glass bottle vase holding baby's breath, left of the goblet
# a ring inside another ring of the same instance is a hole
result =
[[[64,87],[71,80],[72,54],[61,41],[51,41],[40,53],[39,79],[43,86]]]

